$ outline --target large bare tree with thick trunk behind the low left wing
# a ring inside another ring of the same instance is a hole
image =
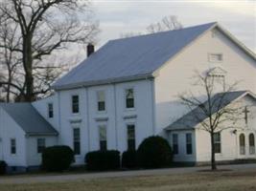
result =
[[[16,89],[20,100],[32,101],[37,95],[46,93],[48,90],[44,89],[42,79],[54,80],[58,67],[45,65],[43,60],[68,48],[71,43],[87,44],[94,40],[98,24],[91,19],[89,8],[87,0],[0,0],[0,24],[8,23],[12,27],[9,33],[13,36],[13,44],[17,44],[12,54],[22,65],[18,83],[8,80],[0,83]],[[15,26],[18,27],[14,31]],[[0,52],[7,48],[7,44],[0,41]],[[41,75],[46,72],[47,76]]]

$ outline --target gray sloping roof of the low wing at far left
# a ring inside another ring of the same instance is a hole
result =
[[[57,136],[58,132],[35,110],[31,103],[0,103],[10,117],[29,136]]]

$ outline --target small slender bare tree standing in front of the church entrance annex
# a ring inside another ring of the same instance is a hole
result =
[[[217,76],[201,75],[197,73],[198,81],[195,84],[202,90],[204,98],[198,97],[192,92],[179,96],[181,103],[188,107],[193,117],[187,118],[186,124],[199,124],[202,130],[210,135],[211,139],[211,168],[217,169],[215,159],[216,133],[236,126],[243,117],[243,104],[236,102],[230,104],[230,94],[234,92],[238,82],[227,85],[224,80]],[[221,90],[221,92],[220,92]],[[219,92],[219,93],[218,93]],[[201,94],[201,93],[200,93]]]

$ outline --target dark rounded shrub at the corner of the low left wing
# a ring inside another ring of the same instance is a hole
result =
[[[42,168],[47,171],[63,171],[74,161],[74,152],[69,146],[51,146],[42,153]]]

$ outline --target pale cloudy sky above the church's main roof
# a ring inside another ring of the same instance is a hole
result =
[[[145,32],[149,24],[176,15],[184,27],[218,21],[256,52],[255,0],[92,0],[100,21],[99,46],[122,32]]]

